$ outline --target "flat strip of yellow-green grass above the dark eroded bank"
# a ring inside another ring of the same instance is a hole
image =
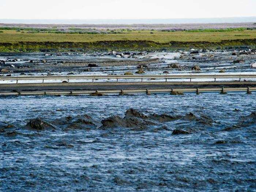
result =
[[[55,33],[22,33],[16,30],[3,30],[0,34],[0,42],[96,42],[96,41],[154,41],[166,43],[170,41],[191,42],[209,41],[217,42],[234,39],[255,39],[256,30],[227,31],[227,32],[193,32],[184,31],[127,31],[125,34],[55,34]]]

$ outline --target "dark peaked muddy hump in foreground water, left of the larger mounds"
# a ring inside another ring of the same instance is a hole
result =
[[[45,129],[56,129],[56,127],[45,120],[42,120],[41,117],[37,117],[31,119],[29,123],[25,126],[25,128],[33,129],[33,130],[45,130]]]

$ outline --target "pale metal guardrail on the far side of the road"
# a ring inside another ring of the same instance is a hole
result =
[[[92,82],[94,82],[95,79],[116,79],[116,82],[118,82],[118,79],[141,79],[141,82],[143,79],[165,79],[167,82],[167,79],[254,79],[256,78],[256,75],[254,74],[239,74],[239,75],[233,75],[233,74],[215,74],[215,75],[205,75],[205,74],[189,74],[189,75],[81,75],[81,76],[1,76],[0,80],[16,80],[16,83],[18,83],[19,80],[42,80],[42,83],[44,83],[44,80],[67,80],[69,83],[69,80],[71,79],[90,79]]]

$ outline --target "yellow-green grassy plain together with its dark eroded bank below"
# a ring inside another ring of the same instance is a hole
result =
[[[52,34],[2,30],[0,52],[49,50],[154,50],[256,46],[256,30],[126,31],[124,34]]]

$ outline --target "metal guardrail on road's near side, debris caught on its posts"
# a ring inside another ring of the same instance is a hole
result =
[[[90,94],[132,94],[132,93],[145,93],[150,95],[151,93],[170,93],[173,92],[220,92],[225,94],[226,92],[241,92],[246,91],[250,94],[252,91],[256,91],[256,87],[222,87],[222,88],[187,88],[187,89],[138,89],[138,90],[79,90],[79,91],[19,91],[19,92],[3,92],[0,95],[90,95]]]

